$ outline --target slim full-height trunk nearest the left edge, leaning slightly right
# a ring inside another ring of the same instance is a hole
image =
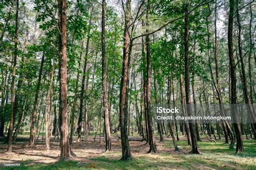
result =
[[[15,36],[14,36],[14,64],[12,67],[12,79],[11,79],[11,114],[10,114],[10,127],[8,131],[8,152],[11,152],[12,146],[12,131],[14,130],[14,83],[15,83],[15,73],[17,65],[17,55],[18,55],[18,15],[19,15],[19,0],[16,0],[16,15],[15,15]]]

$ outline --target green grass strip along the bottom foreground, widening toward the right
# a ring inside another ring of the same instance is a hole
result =
[[[229,149],[224,140],[217,140],[217,144],[210,141],[200,141],[201,154],[186,154],[174,152],[158,152],[157,154],[132,153],[129,161],[119,161],[122,153],[107,152],[90,158],[89,161],[78,165],[78,161],[56,162],[54,164],[35,164],[33,160],[25,160],[19,167],[5,167],[5,169],[160,169],[160,168],[217,168],[217,169],[256,169],[256,142],[244,140],[244,153],[235,154],[235,148]],[[165,141],[164,147],[173,151],[172,141]],[[187,141],[178,141],[182,151],[190,151]]]

